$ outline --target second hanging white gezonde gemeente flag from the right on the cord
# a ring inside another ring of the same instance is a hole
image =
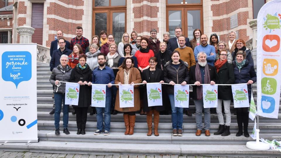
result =
[[[217,85],[203,86],[203,104],[204,108],[217,107]]]

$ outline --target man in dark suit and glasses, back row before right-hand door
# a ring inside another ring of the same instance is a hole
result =
[[[175,28],[175,35],[176,35],[176,37],[170,38],[169,41],[168,41],[167,49],[168,49],[168,52],[170,54],[172,54],[172,52],[175,49],[179,48],[178,38],[179,38],[179,36],[182,35],[182,29],[178,26]],[[187,47],[191,47],[190,42],[189,42],[189,38],[186,37],[185,41],[186,41],[185,45]]]

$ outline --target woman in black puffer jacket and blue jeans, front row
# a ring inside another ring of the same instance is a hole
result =
[[[189,71],[188,65],[182,61],[179,55],[179,51],[173,51],[171,55],[172,60],[164,65],[164,82],[171,85],[167,85],[167,93],[170,99],[172,108],[172,127],[173,136],[182,136],[182,122],[183,122],[183,109],[175,107],[174,101],[174,85],[181,84],[186,85],[189,83]]]

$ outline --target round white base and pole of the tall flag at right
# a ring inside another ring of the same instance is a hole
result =
[[[260,142],[260,130],[256,129],[256,141],[249,141],[246,143],[246,147],[252,150],[260,150],[260,151],[265,151],[269,150],[270,146],[269,144],[265,142]]]

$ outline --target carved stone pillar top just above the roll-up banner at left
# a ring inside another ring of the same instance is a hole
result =
[[[19,26],[17,30],[20,35],[20,43],[32,43],[31,37],[34,34],[34,28],[30,26]]]

